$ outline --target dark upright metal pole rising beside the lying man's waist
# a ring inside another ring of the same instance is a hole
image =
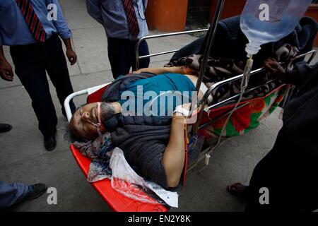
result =
[[[208,32],[208,40],[206,42],[206,48],[204,49],[204,59],[201,64],[200,72],[199,72],[199,78],[196,82],[196,93],[199,93],[201,83],[204,78],[204,73],[206,72],[206,66],[208,64],[208,57],[210,57],[211,47],[214,41],[214,37],[216,36],[216,29],[218,28],[218,21],[220,20],[220,15],[222,13],[224,6],[224,0],[218,0],[218,6],[216,7],[216,14],[213,18],[213,24],[211,25],[211,29]],[[194,111],[194,104],[196,103],[196,95],[192,97],[192,105],[191,105],[191,114]],[[196,122],[198,124],[198,121]],[[194,133],[196,133],[198,126],[194,126]]]

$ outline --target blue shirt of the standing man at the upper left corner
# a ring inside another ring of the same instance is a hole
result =
[[[70,38],[71,30],[66,24],[65,18],[57,0],[29,0],[37,17],[42,23],[47,39],[53,34],[61,38]],[[49,4],[57,6],[57,20],[49,21],[47,15],[52,8],[47,9]],[[16,0],[0,1],[0,46],[2,45],[25,45],[37,42],[25,23],[25,18],[16,4]]]

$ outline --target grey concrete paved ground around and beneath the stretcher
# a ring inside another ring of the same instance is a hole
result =
[[[73,32],[73,46],[78,63],[69,66],[74,90],[112,81],[107,59],[107,38],[102,26],[86,13],[84,0],[60,1],[66,20]],[[155,34],[158,32],[150,32]],[[194,40],[178,37],[149,40],[151,52],[177,49]],[[8,48],[5,54],[11,57]],[[163,66],[170,55],[155,57],[151,66]],[[316,59],[317,61],[317,59]],[[11,61],[12,62],[12,61]],[[37,129],[37,119],[30,104],[30,97],[17,76],[12,83],[0,81],[1,122],[12,124],[13,130],[0,134],[0,179],[5,182],[42,182],[57,189],[57,205],[47,204],[45,194],[10,208],[12,211],[111,211],[93,189],[76,165],[64,139],[67,122],[61,114],[54,87],[52,98],[57,109],[57,148],[45,151],[42,134]],[[76,104],[84,102],[76,99]],[[211,156],[210,165],[201,172],[189,173],[187,184],[179,196],[179,208],[172,211],[242,211],[245,203],[226,191],[232,182],[248,183],[254,166],[271,150],[282,122],[276,110],[257,129],[245,136],[230,138]]]

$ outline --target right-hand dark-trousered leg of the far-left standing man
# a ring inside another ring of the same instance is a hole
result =
[[[59,37],[54,36],[45,42],[45,67],[49,78],[57,90],[57,97],[62,107],[62,113],[66,117],[64,109],[64,100],[68,95],[73,93],[71,79],[69,77],[69,69],[67,69],[66,59]],[[70,102],[71,112],[75,112],[73,101]]]

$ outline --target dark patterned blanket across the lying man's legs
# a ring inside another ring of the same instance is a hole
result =
[[[282,47],[276,50],[275,58],[278,61],[284,61],[285,68],[290,66],[290,59],[298,55],[298,49],[291,46],[290,44],[283,44]],[[200,66],[203,61],[203,56],[201,54],[192,54],[189,57],[182,57],[175,61],[170,61],[166,66],[190,66],[192,69],[196,69],[199,73]],[[244,72],[245,64],[243,61],[238,61],[236,59],[228,59],[223,57],[209,57],[208,64],[206,67],[206,73],[204,73],[203,82],[210,88],[213,84],[220,81],[224,81],[233,76],[237,76]],[[281,85],[280,81],[275,81],[264,85],[266,81],[270,81],[271,74],[267,72],[259,73],[257,76],[252,76],[249,81],[249,88],[254,88],[260,86],[252,92],[245,93],[243,95],[243,100],[248,100],[250,98],[262,97],[267,93]],[[235,81],[233,83],[228,83],[223,85],[212,93],[213,103],[217,103],[228,99],[232,95],[240,93],[240,81]],[[233,100],[234,101],[234,100]]]

